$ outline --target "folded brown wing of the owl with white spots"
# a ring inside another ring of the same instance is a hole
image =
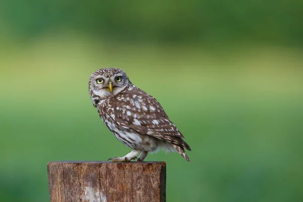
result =
[[[184,136],[164,112],[160,103],[139,88],[113,96],[107,113],[122,127],[171,142],[190,150]]]

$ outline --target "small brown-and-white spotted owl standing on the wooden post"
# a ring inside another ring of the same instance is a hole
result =
[[[112,162],[143,161],[159,149],[177,151],[188,162],[184,136],[168,118],[159,102],[136,87],[125,71],[104,68],[92,73],[88,83],[92,104],[114,136],[132,151]],[[139,157],[137,158],[137,156]]]

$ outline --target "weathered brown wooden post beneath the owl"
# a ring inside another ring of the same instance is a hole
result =
[[[166,201],[165,162],[49,162],[51,202]]]

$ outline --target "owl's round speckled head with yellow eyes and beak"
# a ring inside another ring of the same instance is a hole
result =
[[[122,69],[104,68],[90,75],[88,90],[95,106],[100,100],[121,92],[128,85],[132,83]]]

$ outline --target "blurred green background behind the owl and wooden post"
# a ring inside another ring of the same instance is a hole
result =
[[[0,201],[49,201],[46,164],[130,148],[89,75],[124,69],[185,135],[167,201],[303,200],[303,3],[0,1]]]

